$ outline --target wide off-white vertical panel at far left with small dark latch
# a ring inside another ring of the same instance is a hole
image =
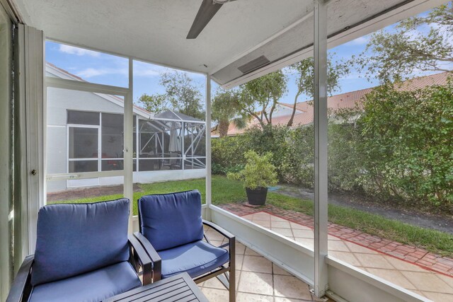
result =
[[[27,25],[16,31],[15,269],[35,252],[38,211],[45,203],[46,100],[44,34]],[[33,171],[34,170],[34,171]],[[33,172],[32,172],[33,171]]]

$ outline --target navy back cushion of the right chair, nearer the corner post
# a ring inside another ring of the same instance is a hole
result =
[[[202,240],[198,190],[146,195],[138,205],[140,232],[157,251]]]

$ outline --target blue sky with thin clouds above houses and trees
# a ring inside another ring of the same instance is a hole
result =
[[[392,31],[394,25],[386,28]],[[335,53],[337,59],[348,60],[353,54],[360,54],[365,50],[365,46],[369,40],[369,35],[365,35],[356,40],[335,47],[329,50],[330,53]],[[128,86],[128,59],[116,57],[110,54],[93,52],[84,50],[69,45],[62,45],[56,42],[46,42],[46,61],[59,66],[62,69],[69,71],[76,76],[92,83],[103,83],[112,86]],[[371,53],[369,55],[372,55]],[[134,101],[136,101],[143,93],[164,93],[164,87],[159,85],[159,77],[162,72],[168,71],[163,66],[148,64],[144,62],[134,61]],[[418,74],[423,75],[423,74]],[[193,79],[195,85],[200,89],[203,97],[205,95],[205,76],[202,74],[188,73]],[[344,93],[348,91],[357,91],[363,88],[377,86],[379,82],[367,80],[360,77],[355,69],[351,69],[348,76],[340,79],[340,88],[334,94]],[[217,90],[217,84],[212,83],[212,93]],[[295,76],[289,74],[288,92],[282,97],[280,102],[293,103],[294,95],[297,93],[295,84]],[[302,95],[299,101],[306,100]]]

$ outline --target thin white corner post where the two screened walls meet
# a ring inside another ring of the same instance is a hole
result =
[[[206,219],[211,220],[211,76],[206,74]]]

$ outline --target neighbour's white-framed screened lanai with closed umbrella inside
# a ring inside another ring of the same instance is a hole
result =
[[[172,110],[154,115],[150,120],[136,117],[134,148],[138,152],[134,153],[134,172],[205,168],[204,121]]]

